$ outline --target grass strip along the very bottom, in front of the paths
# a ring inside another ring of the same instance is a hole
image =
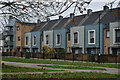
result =
[[[43,74],[4,74],[2,75],[2,78],[49,78],[49,79],[67,79],[70,78],[72,80],[72,78],[75,78],[75,80],[77,78],[82,78],[81,80],[83,80],[83,78],[120,78],[120,75],[116,75],[116,74],[108,74],[108,73],[96,73],[96,72],[76,72],[76,73],[43,73]],[[96,79],[98,80],[98,79]],[[102,80],[102,79],[101,79]],[[109,79],[108,79],[109,80]]]

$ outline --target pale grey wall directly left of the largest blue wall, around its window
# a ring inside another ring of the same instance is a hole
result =
[[[78,44],[74,44],[74,32],[78,32],[79,33],[79,43]],[[79,48],[82,48],[82,53],[84,53],[84,26],[76,26],[76,27],[72,27],[70,29],[70,34],[71,34],[71,44],[70,46],[72,48],[75,48],[75,47],[79,47]]]

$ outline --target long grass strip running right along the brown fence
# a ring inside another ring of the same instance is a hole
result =
[[[120,68],[118,64],[97,64],[97,63],[82,63],[82,62],[67,62],[67,61],[50,61],[50,60],[38,60],[38,59],[23,59],[23,58],[10,58],[2,57],[2,61],[9,62],[22,62],[22,63],[39,63],[39,64],[58,64],[58,65],[76,65],[76,66],[96,66],[96,67],[109,67]]]

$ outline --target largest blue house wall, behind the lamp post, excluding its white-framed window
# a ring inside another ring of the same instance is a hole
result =
[[[100,54],[104,54],[104,27],[105,25],[100,24]],[[95,30],[95,44],[88,44],[88,30]],[[99,48],[99,24],[85,26],[85,46],[86,48]]]

